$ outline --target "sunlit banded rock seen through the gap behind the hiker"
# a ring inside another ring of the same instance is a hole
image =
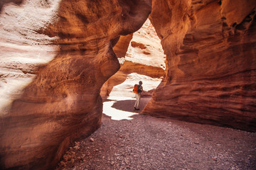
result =
[[[144,96],[151,96],[165,75],[166,56],[149,19],[137,32],[121,36],[113,50],[121,67],[102,86],[101,95],[134,96],[134,84],[143,81]]]

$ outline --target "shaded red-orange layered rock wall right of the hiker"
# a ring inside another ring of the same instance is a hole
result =
[[[256,132],[255,1],[152,1],[166,54],[145,114]]]

